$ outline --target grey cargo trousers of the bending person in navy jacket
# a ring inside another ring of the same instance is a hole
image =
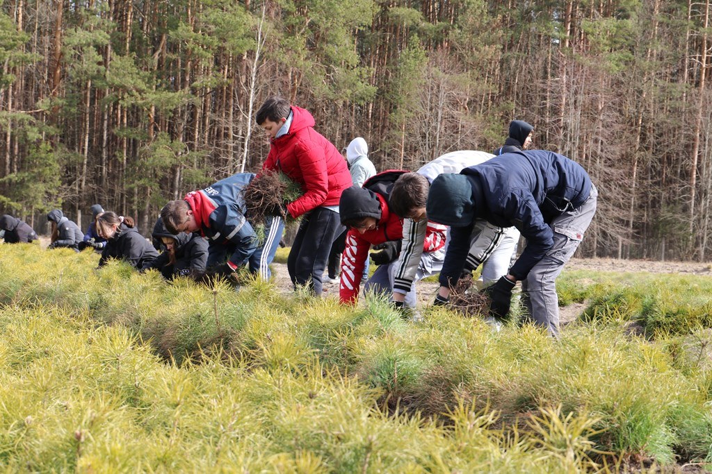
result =
[[[596,213],[598,190],[580,208],[564,212],[551,222],[554,245],[522,281],[522,301],[534,323],[547,328],[551,335],[559,334],[559,298],[556,277],[578,248],[583,234]]]

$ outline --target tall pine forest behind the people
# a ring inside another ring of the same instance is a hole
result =
[[[0,211],[42,232],[93,203],[147,231],[257,171],[281,95],[378,169],[501,146],[581,163],[587,257],[709,259],[710,0],[14,0],[0,9]]]

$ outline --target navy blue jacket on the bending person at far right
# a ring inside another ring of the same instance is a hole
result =
[[[438,205],[436,215],[428,209],[431,220],[453,225],[441,284],[459,277],[475,219],[499,227],[517,227],[527,245],[509,272],[518,280],[525,279],[554,244],[552,220],[562,212],[580,208],[592,188],[580,164],[544,150],[505,153],[464,168],[461,174],[471,187],[471,195],[464,198],[469,202],[460,207],[456,203]]]

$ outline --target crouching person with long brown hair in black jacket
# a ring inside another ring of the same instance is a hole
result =
[[[139,270],[147,269],[157,259],[158,252],[138,233],[131,217],[120,217],[116,212],[104,212],[96,219],[96,230],[107,240],[101,252],[99,266],[109,259],[121,259]]]

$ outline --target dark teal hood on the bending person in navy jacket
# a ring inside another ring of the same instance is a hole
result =
[[[451,227],[465,227],[475,218],[472,186],[467,176],[443,173],[430,185],[425,204],[428,220]]]

